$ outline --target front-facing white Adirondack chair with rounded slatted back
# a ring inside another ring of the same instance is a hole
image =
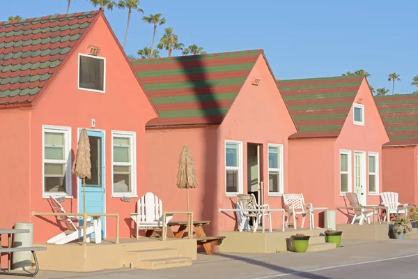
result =
[[[173,218],[172,215],[167,215],[166,223],[162,224],[162,201],[150,192],[138,199],[137,213],[131,213],[130,215],[137,227],[137,239],[139,239],[140,229],[162,229],[163,225],[167,226],[169,220]]]

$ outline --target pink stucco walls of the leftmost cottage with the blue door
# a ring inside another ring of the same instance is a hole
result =
[[[89,44],[98,45],[100,56],[106,58],[105,93],[77,89],[78,54],[86,53]],[[74,155],[78,129],[90,128],[94,118],[95,129],[105,131],[106,211],[120,214],[120,236],[130,236],[129,214],[134,212],[134,203],[111,197],[111,130],[137,133],[137,188],[141,189],[144,183],[145,123],[155,118],[157,113],[103,17],[98,18],[47,90],[28,110],[0,110],[0,119],[4,120],[0,120],[3,130],[1,197],[7,197],[1,200],[0,206],[12,212],[0,218],[0,225],[11,227],[14,222],[32,222],[36,242],[46,241],[60,232],[54,217],[31,216],[31,211],[52,211],[47,199],[42,198],[42,125],[70,127]],[[72,199],[63,202],[67,212],[78,211],[75,176],[72,177],[72,195]],[[115,236],[115,227],[115,219],[107,218],[107,237]]]

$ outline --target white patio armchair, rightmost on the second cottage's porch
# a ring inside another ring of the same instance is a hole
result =
[[[286,220],[286,227],[289,225],[289,220],[293,216],[293,225],[295,229],[296,225],[296,215],[302,215],[302,229],[304,227],[304,220],[309,214],[309,229],[314,227],[314,214],[312,211],[312,204],[305,204],[303,194],[284,194],[283,195],[284,209],[288,213],[288,218]]]

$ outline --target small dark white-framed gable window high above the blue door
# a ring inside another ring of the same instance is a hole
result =
[[[79,54],[78,89],[104,93],[106,89],[106,59]]]

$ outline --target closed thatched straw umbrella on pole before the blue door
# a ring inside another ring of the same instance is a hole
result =
[[[72,164],[72,174],[83,179],[83,245],[86,246],[86,177],[91,179],[90,141],[88,140],[86,129],[82,129],[80,133],[77,153]]]

